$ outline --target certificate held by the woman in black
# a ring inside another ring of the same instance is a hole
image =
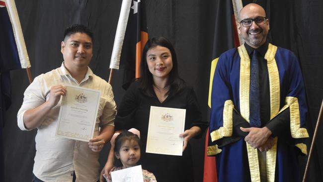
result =
[[[147,153],[181,156],[186,109],[150,107]]]

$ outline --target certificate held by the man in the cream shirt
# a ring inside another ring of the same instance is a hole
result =
[[[56,135],[88,142],[93,138],[100,91],[66,86],[58,116]]]

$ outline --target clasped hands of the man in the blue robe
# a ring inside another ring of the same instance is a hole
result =
[[[248,144],[250,144],[250,146],[254,149],[262,146],[271,135],[271,131],[267,127],[263,127],[263,128],[240,127],[240,129],[243,132],[249,132],[249,134],[246,137],[244,137],[244,141],[248,142]]]

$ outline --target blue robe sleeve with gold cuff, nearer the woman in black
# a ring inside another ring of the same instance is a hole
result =
[[[215,69],[211,95],[210,136],[218,147],[240,140],[245,136],[240,127],[250,127],[235,109],[229,70],[228,57],[223,54]]]

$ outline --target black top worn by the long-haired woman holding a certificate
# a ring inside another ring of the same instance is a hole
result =
[[[126,91],[115,119],[115,130],[136,128],[140,131],[142,144],[140,164],[143,169],[154,173],[158,182],[193,181],[193,166],[189,145],[183,152],[183,156],[145,152],[151,106],[186,109],[185,130],[190,129],[192,126],[199,126],[202,129],[201,133],[203,133],[208,123],[202,121],[194,90],[184,86],[177,93],[170,91],[167,98],[160,102],[156,94],[154,96],[145,94],[140,89],[139,82],[134,82]]]

